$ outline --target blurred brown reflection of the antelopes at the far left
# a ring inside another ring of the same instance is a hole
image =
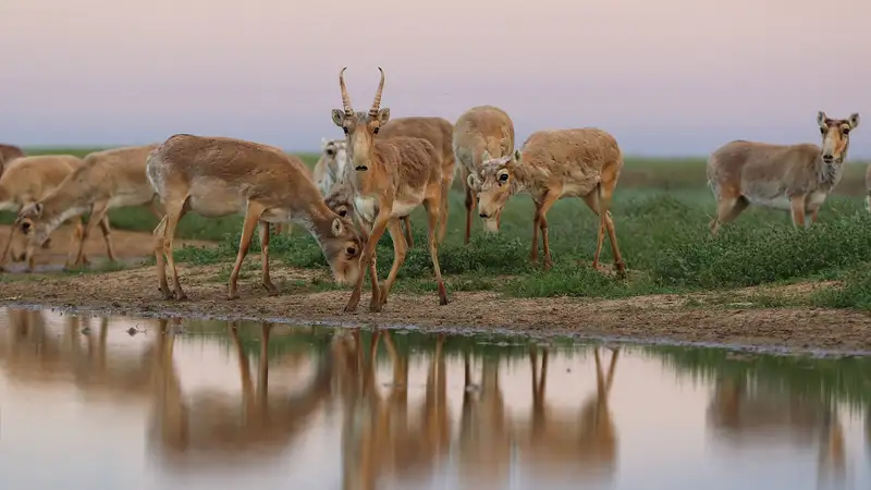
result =
[[[138,356],[109,356],[109,319],[93,331],[90,318],[66,316],[57,335],[42,311],[7,310],[9,328],[0,335],[0,364],[11,379],[28,383],[73,383],[85,395],[145,400],[151,393],[151,370],[158,342],[147,342]]]

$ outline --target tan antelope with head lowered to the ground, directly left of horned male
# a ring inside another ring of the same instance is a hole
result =
[[[268,145],[226,137],[176,134],[151,151],[146,173],[160,195],[167,215],[155,229],[157,274],[165,299],[173,298],[167,283],[165,262],[172,269],[175,299],[185,299],[172,256],[175,226],[187,211],[206,218],[244,213],[238,255],[230,274],[228,298],[238,297],[236,280],[259,223],[261,284],[270,294],[278,289],[269,279],[269,223],[295,221],[315,237],[340,284],[357,282],[364,241],[323,203],[305,164]]]

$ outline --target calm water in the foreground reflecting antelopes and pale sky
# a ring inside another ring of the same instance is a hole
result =
[[[0,488],[871,487],[871,359],[538,342],[0,309]]]

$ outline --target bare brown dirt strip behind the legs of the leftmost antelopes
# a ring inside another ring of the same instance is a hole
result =
[[[9,225],[0,225],[0,241],[5,245],[9,240],[9,232],[12,230]],[[60,270],[66,260],[66,254],[72,247],[78,244],[73,244],[72,237],[75,232],[75,226],[63,224],[59,226],[51,234],[51,243],[48,248],[39,249],[36,256],[36,271]],[[119,261],[135,261],[136,259],[154,256],[152,238],[150,233],[131,232],[125,230],[112,230],[112,245],[115,250],[116,259]],[[182,241],[184,244],[195,246],[211,246],[209,242],[203,241]],[[0,246],[2,246],[0,245]],[[181,244],[179,246],[182,246]],[[21,253],[24,249],[24,242],[19,235],[13,242],[13,252]],[[85,241],[85,256],[91,264],[99,264],[108,259],[106,252],[106,241],[102,237],[102,232],[97,229]],[[7,268],[12,272],[24,270],[23,262],[7,264]]]

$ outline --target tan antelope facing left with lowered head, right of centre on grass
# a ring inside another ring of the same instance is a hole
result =
[[[608,132],[597,127],[548,130],[532,133],[522,149],[508,156],[493,158],[484,154],[478,174],[470,174],[468,184],[478,192],[478,211],[484,219],[498,216],[505,203],[519,192],[532,197],[536,218],[530,260],[538,261],[538,232],[541,230],[544,268],[552,266],[548,211],[563,197],[580,197],[599,216],[592,267],[599,268],[599,254],[608,230],[614,264],[623,274],[626,265],[610,211],[622,169],[623,154]]]

